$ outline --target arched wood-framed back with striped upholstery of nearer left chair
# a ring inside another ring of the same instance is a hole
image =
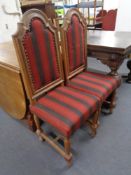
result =
[[[45,14],[36,9],[26,12],[14,38],[23,51],[19,62],[22,70],[25,67],[32,94],[62,81],[56,28]]]

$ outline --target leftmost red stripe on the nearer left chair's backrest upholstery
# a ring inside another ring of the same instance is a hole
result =
[[[33,45],[32,45],[31,36],[29,33],[26,33],[26,35],[23,39],[23,45],[24,45],[26,55],[27,55],[28,60],[29,60],[29,64],[30,64],[29,66],[30,66],[30,70],[31,70],[32,77],[34,80],[34,82],[33,82],[34,89],[37,90],[40,88],[41,82],[39,79],[38,68],[36,67],[34,49],[33,49]]]

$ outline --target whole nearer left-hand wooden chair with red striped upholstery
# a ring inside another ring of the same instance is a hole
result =
[[[18,24],[13,41],[36,133],[71,165],[70,137],[81,125],[90,124],[91,115],[96,121],[100,100],[90,93],[64,86],[57,30],[44,13],[36,9],[27,11]],[[39,120],[51,125],[59,136],[51,139]],[[96,130],[93,123],[90,126]],[[64,148],[58,144],[60,139]]]

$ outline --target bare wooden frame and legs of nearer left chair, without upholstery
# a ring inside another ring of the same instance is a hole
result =
[[[34,90],[33,89],[33,84],[32,84],[32,77],[30,74],[29,69],[27,70],[27,61],[26,61],[26,54],[24,52],[24,47],[22,45],[22,39],[27,30],[30,30],[30,21],[32,18],[40,18],[43,23],[53,32],[54,37],[55,37],[55,45],[57,48],[57,63],[60,71],[60,78],[57,80],[49,83],[43,88],[40,88],[39,90]],[[18,56],[18,61],[25,85],[25,90],[27,93],[27,98],[30,101],[30,104],[35,104],[37,99],[43,95],[46,94],[48,91],[52,90],[53,88],[57,87],[58,85],[63,85],[64,84],[64,78],[63,78],[63,67],[62,67],[62,61],[60,59],[60,53],[59,53],[59,45],[58,45],[58,36],[57,36],[57,30],[56,28],[52,25],[51,21],[48,20],[46,15],[37,10],[37,9],[31,9],[27,11],[22,18],[22,21],[18,23],[18,30],[17,32],[12,36],[14,46],[16,49],[16,53]],[[31,86],[30,86],[31,84]],[[46,133],[44,133],[43,129],[40,126],[39,119],[37,116],[33,115],[34,121],[36,124],[36,134],[40,138],[40,140],[46,140],[51,146],[53,146],[68,162],[69,165],[71,165],[72,162],[72,154],[70,152],[70,139],[62,136],[61,134],[58,135],[58,137],[55,137],[55,139],[50,138]],[[64,148],[61,148],[59,146],[58,141],[62,139],[64,141]]]

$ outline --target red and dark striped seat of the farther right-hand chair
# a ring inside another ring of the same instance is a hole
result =
[[[120,78],[86,71],[72,78],[69,86],[91,93],[104,101],[120,83]]]

